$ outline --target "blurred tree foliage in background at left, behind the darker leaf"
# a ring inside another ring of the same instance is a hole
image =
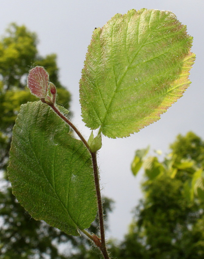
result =
[[[65,258],[53,243],[67,242],[67,235],[42,221],[33,220],[17,203],[7,182],[6,168],[12,137],[12,127],[20,105],[34,101],[26,87],[31,66],[45,66],[50,80],[58,87],[58,103],[69,108],[70,93],[58,79],[56,55],[41,57],[36,34],[25,26],[11,24],[0,41],[0,172],[4,175],[0,192],[0,258]],[[4,187],[2,187],[4,185]],[[74,239],[71,240],[75,243]]]

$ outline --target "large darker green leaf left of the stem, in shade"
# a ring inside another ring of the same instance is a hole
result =
[[[97,203],[90,154],[68,133],[48,105],[22,105],[8,174],[14,195],[33,218],[77,236],[95,219]]]

